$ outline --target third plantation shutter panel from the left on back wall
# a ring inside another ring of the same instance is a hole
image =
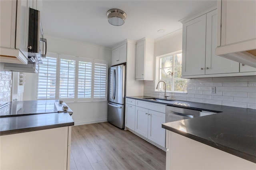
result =
[[[78,101],[92,97],[92,59],[79,58],[78,61]]]

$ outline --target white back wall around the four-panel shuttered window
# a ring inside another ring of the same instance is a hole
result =
[[[74,42],[46,36],[47,51],[91,59],[100,59],[111,65],[111,49],[99,45]],[[37,74],[26,73],[23,100],[36,100]],[[75,125],[107,121],[107,102],[67,103],[73,110]]]

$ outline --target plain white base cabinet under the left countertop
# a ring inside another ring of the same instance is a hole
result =
[[[70,169],[71,127],[0,136],[0,169]]]

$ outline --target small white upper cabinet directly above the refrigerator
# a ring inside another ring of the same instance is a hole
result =
[[[126,43],[112,50],[112,65],[126,62]]]

